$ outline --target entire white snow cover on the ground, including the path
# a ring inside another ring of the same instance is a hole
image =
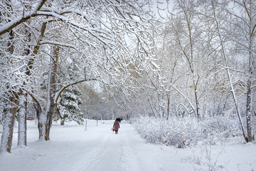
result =
[[[256,145],[228,144],[177,149],[146,143],[132,125],[122,121],[118,135],[110,130],[114,120],[53,123],[50,141],[38,141],[35,121],[28,121],[28,146],[0,154],[1,171],[156,171],[156,170],[256,170]],[[0,128],[1,135],[1,128]]]

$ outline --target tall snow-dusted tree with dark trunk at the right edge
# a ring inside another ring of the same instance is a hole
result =
[[[243,59],[245,66],[241,68],[244,71],[241,79],[242,88],[245,89],[243,93],[246,94],[246,125],[247,135],[245,140],[251,142],[255,140],[254,130],[252,126],[252,104],[253,104],[253,90],[256,86],[256,1],[233,1],[235,9],[238,13],[232,11],[233,21],[230,38],[236,44],[235,50],[238,56]],[[230,10],[229,10],[230,11]],[[240,69],[240,68],[239,68]],[[255,91],[254,91],[255,92]]]

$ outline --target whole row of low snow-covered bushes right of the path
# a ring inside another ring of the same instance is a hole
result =
[[[213,139],[238,136],[240,128],[236,120],[217,117],[205,120],[196,118],[159,119],[153,117],[133,118],[132,125],[148,142],[187,147],[204,140],[212,143]]]

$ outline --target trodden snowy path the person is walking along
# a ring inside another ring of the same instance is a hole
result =
[[[97,131],[92,135],[95,142],[90,143],[90,147],[86,149],[86,155],[78,161],[77,165],[80,167],[73,168],[74,170],[164,170],[161,166],[163,161],[159,160],[161,146],[156,148],[156,145],[146,144],[134,132],[134,128],[125,121],[121,123],[118,135],[110,131],[111,125],[112,123],[106,123],[96,128]],[[165,162],[166,170],[174,165],[169,160]],[[188,170],[188,165],[183,170]]]

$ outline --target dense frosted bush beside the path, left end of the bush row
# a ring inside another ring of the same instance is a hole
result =
[[[201,127],[193,118],[170,120],[141,117],[132,120],[137,132],[148,142],[185,147],[200,140]]]

